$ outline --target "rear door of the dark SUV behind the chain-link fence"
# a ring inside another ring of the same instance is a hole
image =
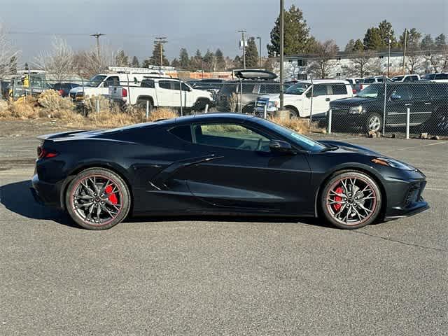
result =
[[[409,123],[420,125],[430,118],[433,111],[433,102],[428,92],[428,85],[413,83],[409,85],[409,88],[412,94]]]

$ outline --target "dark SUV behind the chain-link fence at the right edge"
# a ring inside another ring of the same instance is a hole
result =
[[[448,83],[430,82],[388,83],[386,99],[384,84],[372,84],[352,98],[330,102],[332,125],[379,131],[383,127],[384,101],[387,127],[405,126],[409,107],[410,126],[423,125],[427,131],[448,131]]]

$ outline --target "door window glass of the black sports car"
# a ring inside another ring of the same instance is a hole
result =
[[[242,125],[194,125],[193,134],[196,144],[239,149],[241,151],[269,151],[269,139],[267,137]]]

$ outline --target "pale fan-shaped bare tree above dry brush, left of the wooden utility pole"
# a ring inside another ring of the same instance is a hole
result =
[[[73,73],[73,51],[64,38],[54,36],[51,50],[41,52],[34,59],[37,69],[45,70],[55,76],[55,80],[62,82],[70,78]]]

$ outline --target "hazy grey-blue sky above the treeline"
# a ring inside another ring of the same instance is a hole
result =
[[[350,38],[381,20],[392,22],[395,34],[415,27],[424,34],[448,35],[448,0],[285,0],[302,9],[311,34],[334,39],[344,48]],[[239,53],[238,29],[262,37],[262,53],[279,14],[279,0],[0,0],[0,22],[29,62],[48,48],[52,34],[66,38],[73,49],[89,48],[97,31],[102,43],[143,59],[151,55],[155,36],[167,36],[169,59],[180,48],[221,48]],[[28,33],[28,34],[22,34]],[[33,34],[29,34],[33,33]]]

